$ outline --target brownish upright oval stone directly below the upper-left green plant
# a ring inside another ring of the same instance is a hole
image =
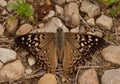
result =
[[[7,19],[6,31],[10,34],[14,34],[17,30],[18,19],[15,17],[9,17]]]

